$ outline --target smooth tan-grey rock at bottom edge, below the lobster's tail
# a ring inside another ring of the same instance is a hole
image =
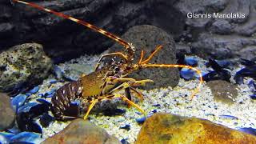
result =
[[[47,138],[46,143],[102,143],[102,144],[121,144],[117,138],[110,136],[106,130],[95,126],[89,121],[76,119],[58,134]]]

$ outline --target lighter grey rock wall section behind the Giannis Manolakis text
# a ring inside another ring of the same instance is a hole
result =
[[[186,18],[187,34],[192,34],[192,41],[187,42],[194,54],[203,58],[249,58],[254,59],[256,31],[256,2],[254,0],[182,0],[176,7],[186,14],[244,14],[245,18]],[[246,36],[246,37],[245,37]]]

